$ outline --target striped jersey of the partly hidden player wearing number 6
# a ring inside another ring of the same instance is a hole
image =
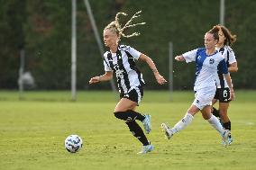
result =
[[[229,67],[231,64],[236,62],[236,58],[233,53],[233,49],[229,46],[225,45],[221,49],[217,49],[224,57],[226,67]],[[228,87],[226,80],[224,79],[224,75],[218,71],[218,75],[216,76],[216,86],[217,88],[226,88]]]

